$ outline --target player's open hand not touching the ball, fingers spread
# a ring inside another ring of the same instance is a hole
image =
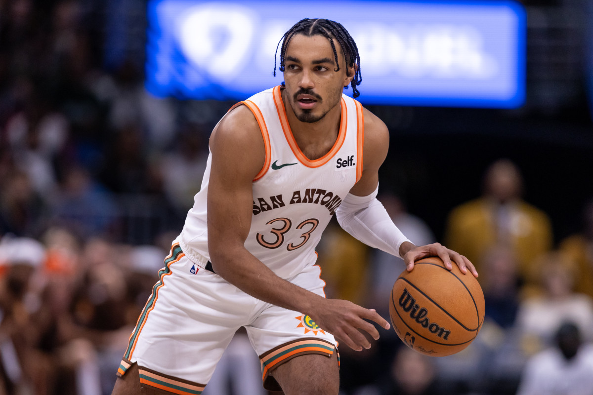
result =
[[[371,348],[371,342],[364,332],[375,340],[379,338],[377,327],[369,321],[376,322],[385,329],[390,328],[389,323],[377,311],[365,309],[347,300],[324,299],[314,310],[308,315],[315,323],[355,351]]]

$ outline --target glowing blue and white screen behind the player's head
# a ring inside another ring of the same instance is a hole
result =
[[[151,0],[146,89],[157,97],[241,100],[279,85],[276,45],[308,17],[339,21],[352,34],[364,104],[524,102],[526,17],[514,1]]]

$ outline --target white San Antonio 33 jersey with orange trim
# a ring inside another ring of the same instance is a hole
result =
[[[336,143],[323,157],[309,160],[292,135],[281,91],[276,86],[237,105],[253,112],[266,147],[264,166],[253,180],[253,216],[245,247],[286,279],[315,264],[321,233],[361,178],[364,119],[361,104],[342,95]],[[210,259],[206,195],[211,156],[179,237],[181,249],[198,264],[203,264],[202,256]]]

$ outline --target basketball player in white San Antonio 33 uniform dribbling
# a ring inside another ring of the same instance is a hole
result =
[[[379,338],[371,322],[390,326],[324,297],[315,245],[334,213],[409,270],[439,256],[477,276],[457,252],[410,243],[375,198],[388,130],[342,94],[350,85],[357,97],[361,82],[345,28],[299,21],[283,36],[279,65],[283,85],[235,105],[213,130],[202,189],[130,336],[114,395],[202,393],[242,326],[264,387],[337,394],[336,339],[361,351],[371,346],[364,333]]]

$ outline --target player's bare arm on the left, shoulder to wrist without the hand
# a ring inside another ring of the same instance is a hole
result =
[[[219,123],[210,149],[208,249],[215,272],[278,306],[298,310],[314,303],[313,294],[281,280],[244,247],[253,215],[252,181],[265,159],[262,134],[246,107],[236,108]]]

